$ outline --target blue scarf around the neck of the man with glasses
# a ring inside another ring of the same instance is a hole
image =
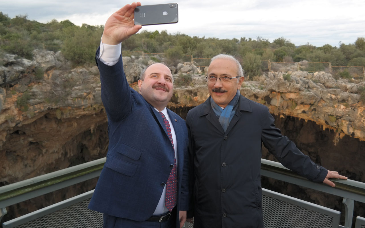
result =
[[[227,105],[226,108],[222,110],[221,107],[219,107],[218,104],[216,104],[212,97],[210,97],[210,104],[212,109],[215,112],[215,115],[219,118],[219,123],[222,125],[224,132],[226,132],[229,123],[231,122],[235,111],[238,107],[238,99],[239,99],[239,90],[237,89],[236,95],[233,97],[233,99],[230,101],[230,103]]]

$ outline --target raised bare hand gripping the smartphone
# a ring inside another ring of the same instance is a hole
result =
[[[108,45],[117,45],[136,34],[142,26],[134,25],[134,9],[140,5],[140,2],[127,4],[113,13],[105,23],[101,41]]]

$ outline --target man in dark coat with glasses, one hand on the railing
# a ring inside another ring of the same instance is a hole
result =
[[[188,112],[194,227],[264,227],[261,206],[262,143],[287,168],[314,182],[347,179],[316,165],[274,125],[269,109],[241,94],[239,62],[212,58],[210,97]]]

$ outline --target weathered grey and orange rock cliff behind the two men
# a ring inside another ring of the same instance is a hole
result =
[[[32,60],[4,56],[5,65],[0,67],[3,184],[105,156],[107,117],[96,66],[70,69],[60,52],[34,51]],[[127,80],[138,91],[136,82],[146,61],[135,57],[123,60]],[[36,73],[39,67],[41,76]],[[207,69],[201,72],[190,62],[169,67],[176,73],[176,86],[168,106],[184,117],[189,107],[209,97],[204,76]],[[290,74],[289,80],[285,74]],[[187,80],[187,75],[191,80],[180,83],[180,77]],[[323,130],[335,131],[333,142],[337,144],[345,135],[365,141],[362,86],[364,81],[335,80],[324,72],[269,72],[257,81],[245,81],[240,90],[276,116],[313,121]],[[78,158],[80,153],[82,158]]]

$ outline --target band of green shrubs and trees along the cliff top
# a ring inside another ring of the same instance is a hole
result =
[[[76,26],[69,20],[39,23],[28,20],[26,15],[9,18],[0,12],[0,49],[31,59],[35,48],[51,51],[62,50],[66,59],[74,65],[93,63],[104,26],[82,24]],[[141,31],[122,44],[125,56],[144,51],[166,53],[171,64],[176,64],[184,55],[194,58],[211,58],[219,53],[231,54],[243,62],[250,76],[261,73],[261,60],[273,62],[332,62],[333,66],[365,66],[365,38],[359,37],[353,44],[340,43],[339,47],[324,45],[315,47],[307,43],[296,47],[284,37],[273,42],[257,37],[218,39],[190,37],[185,34],[168,34],[164,31]],[[1,55],[1,53],[0,53]],[[247,64],[246,64],[247,63]],[[2,63],[0,62],[0,65]]]

